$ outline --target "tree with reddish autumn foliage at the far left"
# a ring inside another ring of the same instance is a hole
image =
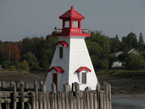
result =
[[[16,43],[5,44],[3,48],[5,59],[18,62],[20,59],[20,51]]]

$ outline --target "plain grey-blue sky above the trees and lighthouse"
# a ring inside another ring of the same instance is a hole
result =
[[[59,16],[74,6],[82,14],[82,29],[102,31],[121,40],[133,32],[145,41],[145,0],[0,0],[0,40],[46,37],[62,28]]]

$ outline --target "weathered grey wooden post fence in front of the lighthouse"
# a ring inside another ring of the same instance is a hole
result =
[[[42,81],[34,82],[33,88],[27,88],[23,81],[16,87],[5,87],[4,81],[0,87],[0,109],[111,109],[111,86],[104,82],[104,90],[79,90],[79,84],[73,83],[69,91],[69,84],[63,83],[62,92],[56,91],[56,85],[51,83],[52,92],[46,92],[46,85]]]

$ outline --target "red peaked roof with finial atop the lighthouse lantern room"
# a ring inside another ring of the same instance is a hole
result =
[[[83,15],[73,9],[74,6],[71,6],[71,9],[65,12],[63,15],[59,16],[60,19],[85,19]]]

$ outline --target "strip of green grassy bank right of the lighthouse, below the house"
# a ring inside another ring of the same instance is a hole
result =
[[[145,70],[107,70],[96,72],[97,75],[105,74],[108,76],[116,76],[117,78],[133,78],[145,79]]]

